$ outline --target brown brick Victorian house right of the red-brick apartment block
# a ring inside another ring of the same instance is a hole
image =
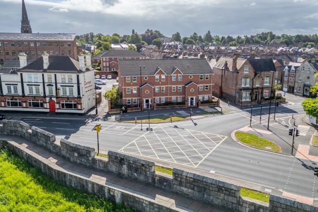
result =
[[[260,104],[272,96],[276,73],[272,59],[221,57],[213,73],[213,94],[237,105]]]

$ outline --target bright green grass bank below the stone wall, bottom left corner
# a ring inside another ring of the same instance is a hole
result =
[[[0,150],[0,212],[136,212],[63,186],[7,149]]]

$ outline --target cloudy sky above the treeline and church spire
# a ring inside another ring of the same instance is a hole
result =
[[[318,0],[25,0],[33,33],[317,34]],[[0,0],[0,31],[19,33],[22,0]]]

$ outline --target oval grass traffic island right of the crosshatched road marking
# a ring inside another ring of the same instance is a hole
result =
[[[252,147],[256,147],[259,149],[264,149],[268,151],[273,151],[273,152],[282,152],[282,149],[279,145],[274,143],[273,141],[269,141],[267,139],[263,139],[261,137],[255,136],[253,134],[249,133],[243,133],[243,132],[235,132],[235,137]],[[271,147],[271,149],[266,149],[266,147]]]

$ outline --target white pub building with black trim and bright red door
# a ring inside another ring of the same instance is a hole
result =
[[[21,68],[0,70],[0,110],[85,113],[95,106],[94,69],[90,55],[43,54],[27,65],[19,55]]]

